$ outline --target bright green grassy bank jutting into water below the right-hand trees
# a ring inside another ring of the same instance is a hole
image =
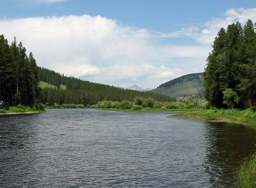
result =
[[[179,113],[175,117],[225,121],[256,127],[256,112],[252,112],[250,109],[196,110],[193,112],[188,110],[188,112]]]

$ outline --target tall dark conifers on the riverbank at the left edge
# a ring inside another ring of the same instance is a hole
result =
[[[32,52],[0,36],[0,101],[4,106],[33,105],[40,95],[38,68]]]

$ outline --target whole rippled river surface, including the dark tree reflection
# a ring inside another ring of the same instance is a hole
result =
[[[236,187],[244,126],[170,113],[48,110],[0,117],[0,187]]]

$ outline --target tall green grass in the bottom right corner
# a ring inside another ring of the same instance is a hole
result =
[[[243,163],[237,173],[238,187],[253,188],[256,187],[256,154],[250,161]]]

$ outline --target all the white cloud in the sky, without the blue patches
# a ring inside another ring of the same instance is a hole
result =
[[[248,18],[256,20],[255,8],[230,9],[221,18],[170,33],[90,15],[0,20],[0,28],[9,41],[14,36],[22,41],[35,54],[39,66],[92,82],[156,87],[182,74],[203,71],[220,27],[237,20],[244,24]],[[198,43],[182,46],[158,40],[184,36]]]

